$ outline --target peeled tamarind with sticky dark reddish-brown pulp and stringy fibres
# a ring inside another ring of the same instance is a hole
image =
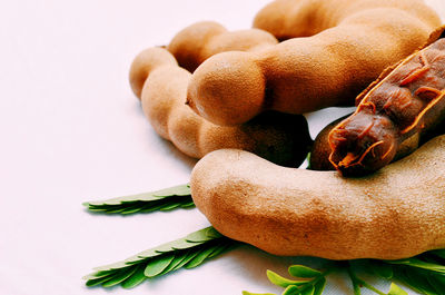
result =
[[[343,175],[390,163],[400,144],[445,118],[445,39],[411,55],[360,95],[356,111],[329,132],[329,160]]]

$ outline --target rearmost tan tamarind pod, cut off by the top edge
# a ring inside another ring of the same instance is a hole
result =
[[[439,18],[423,0],[275,0],[254,19],[254,28],[273,33],[278,40],[309,37],[334,28],[348,16],[375,8],[398,8],[437,27]]]

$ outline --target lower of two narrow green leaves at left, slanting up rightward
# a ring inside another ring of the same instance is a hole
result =
[[[126,260],[97,267],[95,273],[85,277],[86,285],[111,287],[120,284],[125,288],[131,288],[146,278],[161,276],[180,268],[197,267],[239,244],[220,235],[212,227],[204,228],[184,238],[141,252]]]

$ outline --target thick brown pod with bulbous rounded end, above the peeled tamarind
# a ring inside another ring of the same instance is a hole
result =
[[[336,27],[312,37],[255,52],[231,51],[208,58],[190,80],[190,107],[215,124],[238,125],[266,109],[304,114],[353,105],[386,67],[425,43],[441,24],[418,0],[404,1],[416,6],[416,13],[394,1],[379,1],[380,7],[372,9],[360,9],[362,2],[368,0],[339,1],[343,7],[337,7],[337,1],[323,1],[336,13],[314,21],[330,21]],[[422,11],[425,16],[419,18]]]

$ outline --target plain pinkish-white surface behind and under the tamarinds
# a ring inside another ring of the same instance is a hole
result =
[[[248,28],[267,2],[0,2],[0,294],[279,291],[266,269],[284,274],[300,259],[250,247],[131,291],[87,288],[81,279],[95,266],[208,225],[197,209],[121,217],[81,206],[187,183],[195,164],[144,118],[127,81],[132,58],[198,20]],[[428,2],[444,16],[442,0]],[[313,135],[345,111],[310,116]],[[338,278],[326,294],[349,291],[349,282]]]

